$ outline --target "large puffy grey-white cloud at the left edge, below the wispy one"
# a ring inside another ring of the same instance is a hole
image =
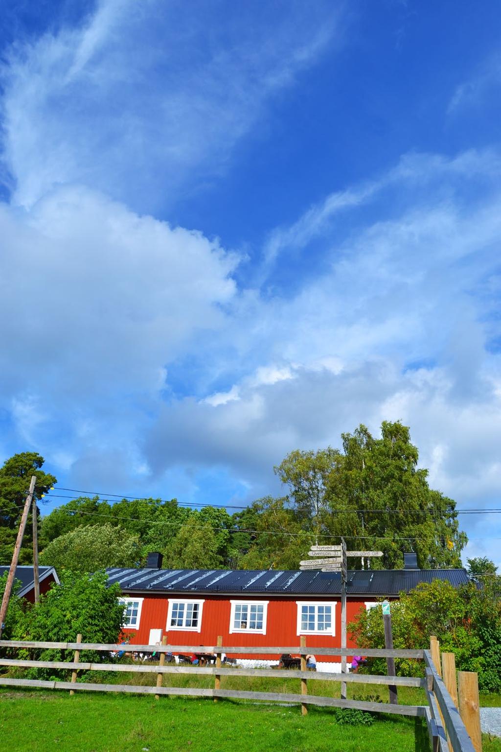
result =
[[[217,241],[86,189],[0,206],[0,237],[0,390],[26,441],[123,441],[236,293]]]

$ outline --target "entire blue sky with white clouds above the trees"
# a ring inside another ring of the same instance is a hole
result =
[[[401,419],[499,507],[499,4],[4,5],[0,459],[245,504]]]

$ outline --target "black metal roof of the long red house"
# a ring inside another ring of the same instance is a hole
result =
[[[276,569],[107,569],[110,584],[123,592],[249,593],[252,595],[330,595],[341,593],[337,573]],[[446,580],[454,587],[466,584],[464,569],[380,569],[349,572],[349,596],[396,596],[420,582]]]

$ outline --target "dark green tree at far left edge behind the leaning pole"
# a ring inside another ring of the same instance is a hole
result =
[[[56,483],[56,478],[41,467],[44,458],[36,452],[22,452],[6,459],[0,468],[0,564],[10,564],[17,527],[32,475],[36,475],[35,499],[40,501]],[[29,525],[31,526],[31,514]],[[31,540],[25,536],[20,552],[20,564],[32,562]]]

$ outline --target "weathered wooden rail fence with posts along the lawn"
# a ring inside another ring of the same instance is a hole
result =
[[[455,668],[451,670],[450,660],[445,656],[452,653],[443,653],[442,662],[448,667],[445,681],[442,679],[442,666],[440,664],[439,644],[435,638],[430,641],[430,650],[386,650],[364,649],[364,656],[381,658],[407,658],[424,660],[426,676],[404,677],[370,674],[344,674],[334,672],[319,672],[313,674],[306,670],[306,655],[315,656],[351,656],[354,648],[330,648],[330,647],[306,647],[304,639],[301,639],[300,647],[225,647],[222,638],[218,638],[218,644],[214,646],[201,645],[131,645],[137,653],[159,654],[159,665],[147,663],[89,663],[80,660],[81,653],[87,650],[98,652],[119,652],[124,650],[123,644],[100,644],[83,643],[78,635],[77,642],[32,642],[0,640],[1,648],[28,649],[28,650],[70,650],[74,651],[74,660],[44,661],[44,660],[20,660],[12,658],[0,658],[0,668],[20,667],[38,669],[62,669],[71,671],[71,681],[45,681],[41,679],[8,678],[0,675],[0,686],[4,687],[41,687],[53,690],[70,690],[86,692],[128,692],[140,694],[152,694],[158,699],[161,695],[187,695],[212,697],[215,702],[220,698],[267,700],[274,702],[297,703],[301,705],[303,714],[306,714],[308,705],[323,705],[333,708],[353,708],[361,711],[391,713],[407,716],[425,717],[430,743],[433,752],[481,752],[480,722],[478,713],[478,684],[476,675],[460,672],[459,695],[454,693]],[[355,649],[357,650],[357,649]],[[216,655],[216,666],[165,666],[165,653],[200,653]],[[300,656],[300,670],[294,669],[238,669],[222,666],[222,653],[227,655],[252,655],[264,654],[277,656],[282,653],[295,653]],[[438,657],[437,657],[438,656]],[[454,657],[454,656],[453,656]],[[143,686],[135,684],[92,684],[90,682],[77,682],[78,671],[97,672],[127,672],[155,674],[156,686]],[[445,672],[444,672],[445,673]],[[166,674],[195,674],[213,676],[214,687],[162,687],[162,677]],[[287,678],[300,680],[300,694],[283,692],[254,692],[252,690],[229,690],[221,687],[222,678],[225,676]],[[364,700],[340,699],[333,696],[318,696],[308,694],[308,680],[318,679],[327,682],[346,681],[350,684],[379,684],[392,687],[421,687],[427,696],[428,705],[398,705],[385,702],[367,702]],[[454,678],[454,681],[453,681]],[[474,678],[474,681],[472,681]],[[453,686],[454,685],[454,686]],[[475,699],[476,697],[476,699]],[[458,698],[459,707],[458,710]],[[465,725],[466,723],[466,725]],[[478,728],[478,732],[477,732]],[[471,738],[470,738],[471,737]],[[473,741],[472,741],[473,740]]]

